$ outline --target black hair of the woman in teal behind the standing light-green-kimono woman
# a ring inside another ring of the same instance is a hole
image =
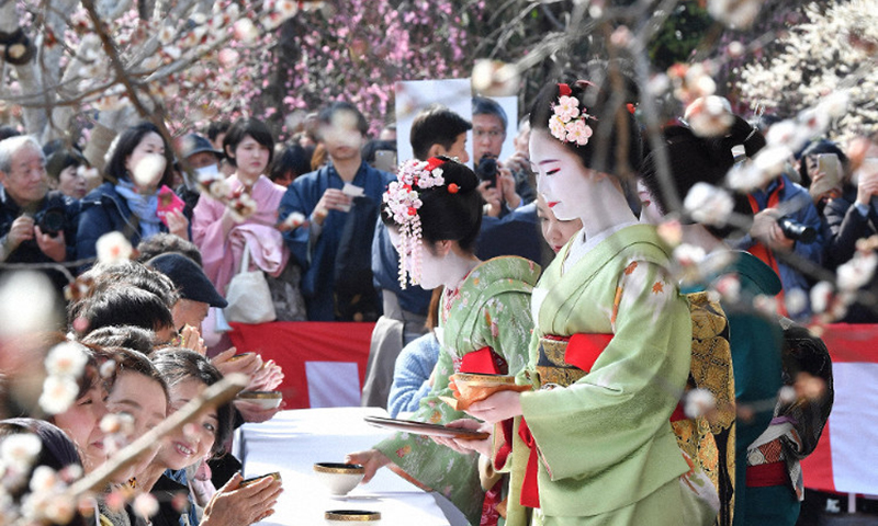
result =
[[[646,186],[655,206],[663,214],[676,211],[672,208],[675,195],[684,199],[697,183],[708,183],[722,186],[727,173],[734,165],[735,159],[732,148],[743,146],[746,157],[753,157],[765,147],[765,137],[740,116],[734,117],[734,124],[729,133],[722,137],[699,137],[688,126],[669,126],[664,130],[664,150],[668,159],[672,186],[662,184],[658,173],[656,151],[651,151],[641,165],[640,178]],[[734,211],[750,214],[750,206],[745,197],[735,196]],[[732,228],[705,227],[717,237],[724,238],[731,233]]]

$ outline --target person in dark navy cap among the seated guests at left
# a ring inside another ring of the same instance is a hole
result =
[[[204,271],[183,254],[167,253],[157,255],[146,264],[167,275],[180,291],[180,299],[173,305],[173,325],[201,328],[211,307],[225,308],[228,302],[216,291]]]

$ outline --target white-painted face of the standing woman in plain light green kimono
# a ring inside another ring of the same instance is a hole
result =
[[[562,221],[581,219],[600,210],[593,191],[595,173],[576,155],[547,132],[530,134],[530,162],[537,172],[537,191]]]

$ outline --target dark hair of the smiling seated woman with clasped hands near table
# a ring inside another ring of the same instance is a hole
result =
[[[162,348],[153,353],[151,359],[153,365],[168,384],[168,389],[173,389],[173,386],[188,379],[199,380],[205,386],[213,386],[223,379],[223,374],[211,364],[210,359],[188,348]],[[216,416],[218,425],[211,453],[219,456],[225,451],[225,443],[232,436],[234,422],[232,404],[218,405]]]

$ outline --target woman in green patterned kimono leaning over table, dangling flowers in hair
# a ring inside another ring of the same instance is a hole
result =
[[[464,164],[447,158],[409,161],[398,179],[384,195],[382,218],[399,252],[401,282],[405,286],[408,275],[427,289],[446,287],[437,329],[442,351],[434,388],[412,420],[448,423],[465,416],[439,399],[453,396],[450,375],[515,375],[527,365],[530,293],[540,267],[516,256],[485,262],[475,258],[482,201],[479,179]],[[485,492],[476,456],[397,433],[373,449],[349,455],[347,461],[365,466],[364,482],[391,465],[397,473],[446,495],[471,523],[480,523]]]

